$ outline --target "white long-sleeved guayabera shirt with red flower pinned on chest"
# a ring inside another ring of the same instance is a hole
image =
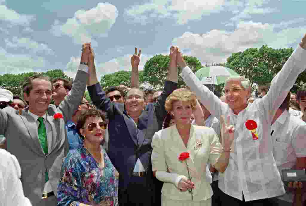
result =
[[[235,126],[229,164],[225,172],[219,173],[219,188],[226,194],[245,201],[279,196],[285,193],[278,168],[272,154],[271,140],[272,118],[287,96],[289,90],[304,71],[306,50],[300,46],[293,52],[282,70],[273,78],[271,88],[262,99],[248,104],[238,115],[201,84],[191,69],[186,66],[181,73],[187,86],[195,92],[201,103],[212,115],[230,115],[230,124]],[[245,126],[247,120],[257,123],[258,139]],[[223,142],[223,141],[222,141]]]

